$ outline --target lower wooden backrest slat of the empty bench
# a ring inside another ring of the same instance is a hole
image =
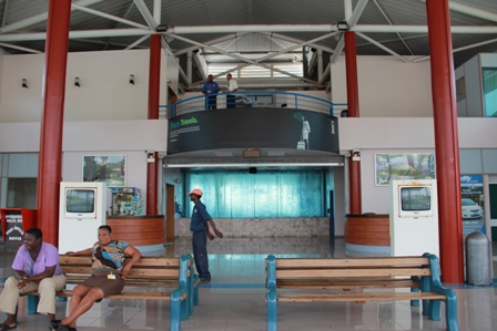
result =
[[[277,269],[278,278],[333,278],[333,277],[394,277],[429,276],[427,268],[373,268],[373,269]]]

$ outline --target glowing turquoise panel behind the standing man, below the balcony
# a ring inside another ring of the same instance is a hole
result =
[[[325,216],[322,170],[199,170],[186,173],[186,185],[202,188],[202,201],[214,218]]]

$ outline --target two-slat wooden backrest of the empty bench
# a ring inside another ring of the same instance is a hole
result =
[[[272,262],[271,257],[266,265]],[[273,259],[274,279],[424,277],[432,273],[427,257]]]

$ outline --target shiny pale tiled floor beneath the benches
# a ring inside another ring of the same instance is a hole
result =
[[[179,239],[162,251],[148,255],[180,256],[191,252],[191,242]],[[345,257],[343,240],[328,238],[215,239],[209,242],[212,282],[201,286],[200,304],[181,330],[266,330],[264,302],[264,258],[268,254],[285,257]],[[16,248],[0,245],[1,283],[11,275]],[[497,245],[494,242],[494,251]],[[497,261],[493,262],[497,270]],[[494,286],[452,286],[458,297],[460,330],[497,330],[497,296]],[[444,304],[443,304],[444,306]],[[57,316],[67,313],[67,302],[58,302]],[[144,300],[103,300],[78,320],[79,331],[90,330],[169,330],[169,302]],[[444,308],[443,308],[444,309]],[[20,300],[19,330],[48,330],[44,316],[27,316],[26,299]],[[444,319],[443,319],[444,320]],[[278,304],[278,330],[445,330],[408,302],[353,302]]]

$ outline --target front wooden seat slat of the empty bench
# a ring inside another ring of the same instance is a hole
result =
[[[278,293],[277,301],[321,302],[321,301],[397,301],[445,299],[435,292],[342,292],[342,293]]]

